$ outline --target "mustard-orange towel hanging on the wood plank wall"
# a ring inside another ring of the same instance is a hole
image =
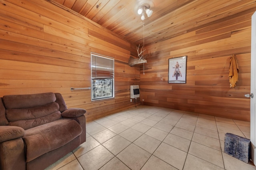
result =
[[[239,72],[239,68],[238,68],[238,64],[236,62],[236,55],[232,55],[232,57],[230,57],[230,61],[229,61],[229,82],[230,82],[230,88],[234,88],[236,86],[236,82],[238,82],[238,72]]]

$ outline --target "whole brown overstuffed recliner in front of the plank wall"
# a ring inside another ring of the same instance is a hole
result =
[[[0,170],[43,170],[86,141],[85,109],[59,93],[0,98]]]

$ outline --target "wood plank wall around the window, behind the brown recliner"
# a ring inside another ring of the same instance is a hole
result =
[[[128,65],[130,51],[136,46],[50,0],[0,0],[1,97],[61,93],[68,108],[87,110],[87,121],[133,107],[140,68]],[[90,52],[114,57],[114,99],[91,102],[90,90],[70,90],[91,86]]]

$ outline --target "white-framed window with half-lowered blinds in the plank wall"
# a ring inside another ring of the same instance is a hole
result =
[[[91,53],[92,100],[114,98],[114,58]]]

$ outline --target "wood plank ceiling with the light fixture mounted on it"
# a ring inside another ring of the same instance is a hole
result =
[[[89,18],[136,45],[157,43],[256,6],[255,0],[49,0]],[[154,12],[143,21],[137,4]],[[236,10],[234,10],[236,9]],[[144,31],[143,31],[144,30]]]

